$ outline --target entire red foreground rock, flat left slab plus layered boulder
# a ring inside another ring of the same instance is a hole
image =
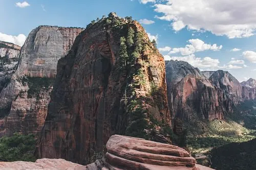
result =
[[[75,169],[75,170],[214,170],[196,164],[182,148],[141,138],[113,135],[106,143],[106,154],[82,166],[63,159],[38,159],[32,162],[0,162],[0,169]]]

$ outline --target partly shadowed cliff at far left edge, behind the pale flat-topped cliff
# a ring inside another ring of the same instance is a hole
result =
[[[0,41],[0,92],[9,83],[18,63],[20,46]]]

